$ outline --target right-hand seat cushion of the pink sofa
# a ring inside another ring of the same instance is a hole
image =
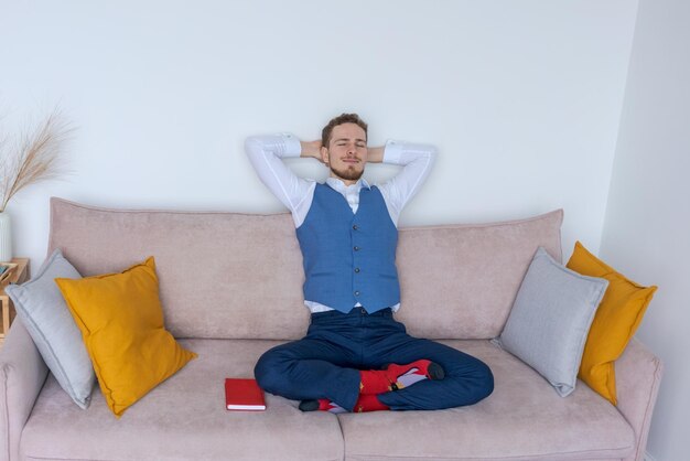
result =
[[[488,341],[443,341],[484,361],[494,393],[439,411],[338,415],[348,460],[621,459],[634,451],[625,418],[587,386],[561,398],[541,376]]]

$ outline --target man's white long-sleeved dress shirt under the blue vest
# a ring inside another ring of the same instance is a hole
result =
[[[282,162],[284,158],[300,157],[300,140],[290,133],[256,136],[247,138],[245,151],[259,179],[290,210],[295,228],[300,227],[312,205],[316,182],[298,176]],[[388,214],[396,226],[400,212],[429,175],[435,154],[433,146],[393,140],[386,142],[384,163],[402,165],[403,169],[395,178],[376,186],[381,192]],[[349,186],[336,178],[328,178],[326,183],[343,194],[353,213],[357,213],[359,206],[359,190],[369,187],[364,179]],[[312,312],[332,310],[310,300],[304,300],[304,304]],[[393,312],[399,308],[400,304],[391,305]]]

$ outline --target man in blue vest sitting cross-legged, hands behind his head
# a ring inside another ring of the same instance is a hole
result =
[[[367,125],[343,114],[320,141],[292,135],[248,138],[262,182],[290,210],[303,256],[308,334],[271,349],[255,368],[267,392],[302,400],[300,409],[371,411],[471,405],[494,387],[489,368],[457,350],[406,333],[395,265],[402,207],[427,179],[429,146],[367,147]],[[315,158],[324,184],[298,178],[283,158]],[[381,185],[362,179],[367,162],[403,165]]]

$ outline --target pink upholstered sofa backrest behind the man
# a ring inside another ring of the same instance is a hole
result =
[[[408,331],[430,339],[498,335],[538,246],[561,260],[562,211],[488,225],[400,230]],[[177,337],[302,337],[302,255],[287,213],[108,210],[51,200],[48,254],[83,276],[155,258],[165,324]]]

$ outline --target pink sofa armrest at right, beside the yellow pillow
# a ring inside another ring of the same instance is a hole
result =
[[[664,364],[642,342],[633,337],[615,366],[618,411],[635,430],[636,440],[635,451],[625,460],[640,461],[645,457]]]

